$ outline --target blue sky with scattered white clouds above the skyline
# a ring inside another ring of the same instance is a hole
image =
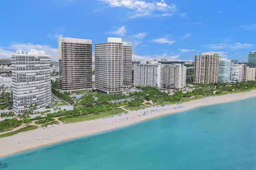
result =
[[[203,52],[247,62],[256,51],[255,0],[2,0],[0,58],[16,49],[58,61],[58,38],[133,43],[133,61],[193,61]]]

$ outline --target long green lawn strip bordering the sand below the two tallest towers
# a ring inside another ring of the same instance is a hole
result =
[[[101,117],[108,117],[109,115],[117,115],[117,114],[123,113],[123,112],[126,112],[126,111],[118,108],[118,109],[114,109],[114,110],[104,111],[99,114],[60,117],[59,121],[62,121],[63,123],[76,123],[76,122],[80,122],[80,121],[100,119]]]

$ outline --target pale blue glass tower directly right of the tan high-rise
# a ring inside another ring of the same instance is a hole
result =
[[[220,83],[230,82],[230,64],[231,64],[231,60],[228,60],[226,58],[219,59],[218,82]]]

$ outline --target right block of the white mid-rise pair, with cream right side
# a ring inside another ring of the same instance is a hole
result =
[[[186,70],[186,66],[182,64],[164,64],[163,87],[181,89],[186,86]]]

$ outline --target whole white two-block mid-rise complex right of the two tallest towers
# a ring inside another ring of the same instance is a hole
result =
[[[158,61],[141,61],[134,64],[134,86],[182,88],[186,85],[186,66],[161,64]]]

